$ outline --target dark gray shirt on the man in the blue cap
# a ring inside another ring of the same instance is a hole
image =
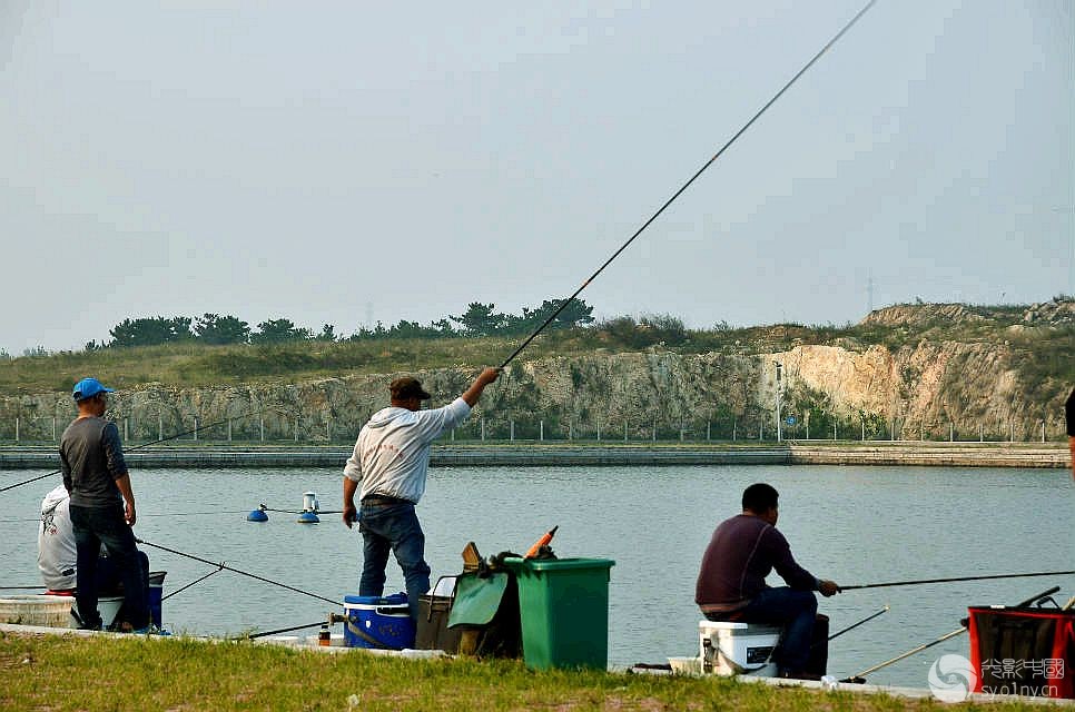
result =
[[[60,437],[60,467],[71,504],[102,507],[118,503],[116,481],[127,474],[119,429],[105,418],[79,418]]]

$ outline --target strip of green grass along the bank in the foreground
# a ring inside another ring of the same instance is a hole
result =
[[[720,678],[531,672],[517,661],[410,661],[250,643],[0,633],[2,710],[888,710],[955,709]],[[1039,709],[990,704],[990,711]]]

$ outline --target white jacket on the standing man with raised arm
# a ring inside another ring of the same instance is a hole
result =
[[[344,476],[362,483],[359,500],[379,494],[417,504],[425,494],[430,446],[470,414],[471,406],[463,398],[432,411],[395,406],[377,411],[358,432]]]

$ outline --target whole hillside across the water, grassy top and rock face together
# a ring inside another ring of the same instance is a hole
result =
[[[0,441],[50,442],[87,375],[119,389],[110,417],[132,441],[198,424],[216,424],[205,439],[346,439],[387,405],[394,375],[417,375],[440,405],[523,338],[184,339],[6,359]],[[845,326],[687,329],[671,316],[620,317],[542,334],[452,437],[766,441],[779,422],[788,438],[1056,439],[1073,353],[1069,298],[898,305]]]

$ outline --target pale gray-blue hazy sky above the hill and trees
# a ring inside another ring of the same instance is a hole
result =
[[[0,0],[0,349],[569,296],[862,3]],[[582,298],[707,328],[1075,293],[1073,13],[879,0]]]

